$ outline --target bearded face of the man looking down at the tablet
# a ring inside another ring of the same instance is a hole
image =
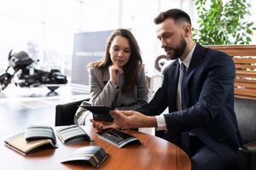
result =
[[[161,48],[164,48],[170,59],[181,57],[187,47],[183,36],[183,26],[175,24],[172,19],[166,19],[158,25],[157,37],[160,39]]]

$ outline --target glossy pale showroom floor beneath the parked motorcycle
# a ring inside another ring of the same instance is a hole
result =
[[[29,125],[55,126],[55,105],[89,97],[88,88],[75,84],[62,86],[55,93],[49,93],[45,87],[18,88],[10,85],[0,94],[0,134],[8,135],[12,127],[23,131]],[[9,129],[6,131],[6,128]]]

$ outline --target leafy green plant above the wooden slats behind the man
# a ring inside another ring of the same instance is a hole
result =
[[[253,22],[247,22],[251,5],[246,0],[194,0],[199,28],[193,38],[203,45],[248,44],[252,41]],[[224,3],[226,2],[226,3]]]

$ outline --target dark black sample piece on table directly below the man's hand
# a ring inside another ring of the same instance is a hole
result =
[[[124,133],[113,128],[104,129],[100,132],[97,132],[96,135],[100,139],[106,140],[109,143],[118,146],[119,148],[123,147],[126,144],[141,144],[139,139],[132,136],[131,134]]]

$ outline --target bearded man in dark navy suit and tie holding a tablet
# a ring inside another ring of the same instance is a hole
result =
[[[193,42],[189,15],[180,9],[160,13],[154,23],[161,47],[176,60],[165,69],[163,84],[148,105],[111,112],[114,125],[164,130],[160,137],[183,147],[192,169],[236,169],[241,139],[232,59]],[[169,113],[160,115],[166,107]],[[105,125],[94,122],[99,129]]]

